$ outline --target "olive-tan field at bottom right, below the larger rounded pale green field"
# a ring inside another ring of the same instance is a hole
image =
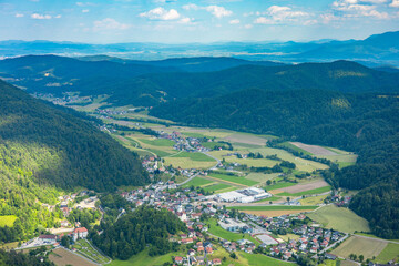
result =
[[[364,255],[365,259],[367,259],[372,258],[374,256],[377,257],[386,246],[387,243],[379,239],[351,236],[334,249],[331,254],[345,258],[349,258],[350,254],[356,254],[357,256]]]

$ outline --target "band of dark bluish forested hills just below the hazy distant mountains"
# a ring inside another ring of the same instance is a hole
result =
[[[152,106],[191,96],[213,98],[245,89],[323,89],[354,93],[399,91],[399,72],[377,71],[349,61],[297,65],[252,62],[252,65],[241,65],[245,62],[226,58],[197,58],[137,62],[150,64],[141,65],[123,60],[86,62],[53,55],[22,57],[0,60],[0,76],[27,88],[29,93],[108,94],[110,104],[135,106]],[[190,72],[237,64],[221,71]]]

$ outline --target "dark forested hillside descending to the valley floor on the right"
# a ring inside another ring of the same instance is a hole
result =
[[[331,170],[334,185],[360,190],[350,207],[379,236],[399,237],[399,98],[323,90],[244,90],[185,99],[151,111],[190,125],[273,133],[287,140],[341,147],[359,154],[355,166]]]

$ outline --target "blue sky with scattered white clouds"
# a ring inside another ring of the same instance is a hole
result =
[[[0,0],[0,40],[310,41],[397,30],[399,0]]]

